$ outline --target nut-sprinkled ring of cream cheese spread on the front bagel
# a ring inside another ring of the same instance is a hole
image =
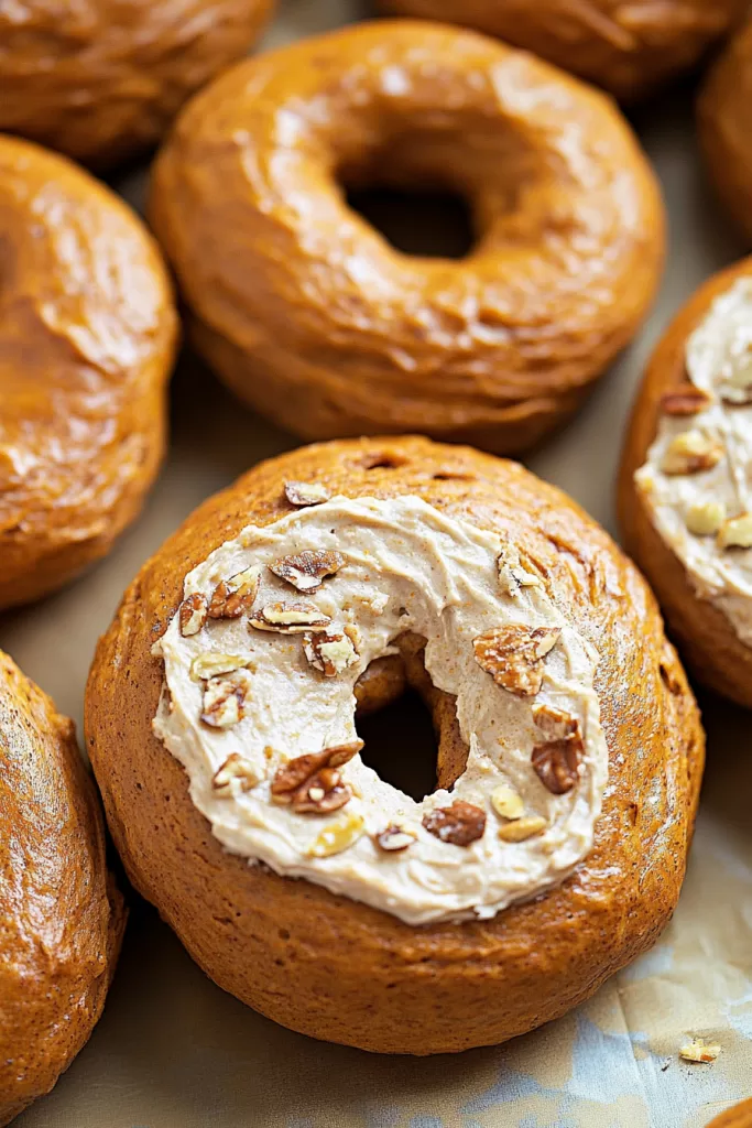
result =
[[[285,562],[307,552],[315,566]],[[498,536],[415,496],[334,497],[248,526],[184,594],[156,647],[154,731],[228,851],[421,924],[493,917],[591,849],[608,770],[598,654]],[[422,802],[353,747],[353,687],[406,632],[426,640],[468,748],[451,793]],[[299,757],[339,746],[351,758],[302,804],[281,792]]]

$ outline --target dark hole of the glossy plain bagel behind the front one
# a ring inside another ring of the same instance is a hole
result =
[[[448,190],[342,185],[347,205],[387,243],[414,258],[467,258],[476,236],[466,200]]]

